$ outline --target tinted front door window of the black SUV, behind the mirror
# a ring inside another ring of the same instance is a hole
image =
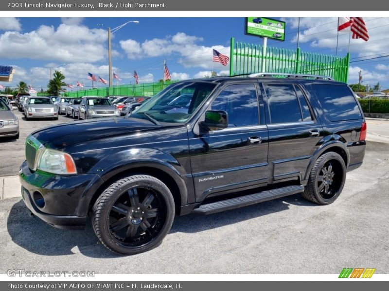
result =
[[[258,99],[254,84],[230,85],[212,102],[212,110],[228,113],[229,127],[258,125]]]

